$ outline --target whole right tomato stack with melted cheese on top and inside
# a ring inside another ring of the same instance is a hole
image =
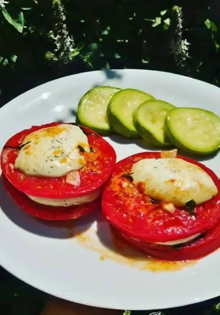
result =
[[[220,180],[176,151],[118,162],[102,211],[119,240],[162,260],[191,260],[220,247]]]

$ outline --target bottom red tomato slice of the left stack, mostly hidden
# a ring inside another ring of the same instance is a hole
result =
[[[2,182],[11,198],[19,205],[19,207],[38,219],[44,220],[70,220],[77,219],[83,215],[90,213],[101,205],[101,198],[94,201],[70,207],[52,207],[44,206],[40,203],[32,201],[25,196],[24,193],[17,190],[8,180],[2,175]]]

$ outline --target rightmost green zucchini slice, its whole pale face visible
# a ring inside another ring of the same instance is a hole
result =
[[[204,109],[172,109],[165,132],[173,145],[186,152],[206,155],[220,148],[220,118]]]

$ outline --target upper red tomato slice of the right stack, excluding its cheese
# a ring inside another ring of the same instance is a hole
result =
[[[173,214],[161,211],[160,203],[154,203],[140,189],[137,190],[129,178],[123,177],[130,173],[137,161],[159,157],[160,152],[143,152],[116,164],[102,194],[102,212],[107,221],[129,237],[147,243],[174,241],[212,228],[220,219],[220,180],[205,165],[188,157],[177,156],[205,170],[218,188],[215,197],[195,207],[196,215],[181,207],[176,207]]]

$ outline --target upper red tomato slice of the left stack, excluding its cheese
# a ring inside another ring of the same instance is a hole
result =
[[[19,153],[19,146],[30,133],[42,129],[57,126],[60,123],[49,123],[41,126],[33,126],[25,129],[5,144],[1,154],[1,168],[7,179],[21,192],[25,194],[45,198],[71,198],[92,192],[100,187],[111,174],[116,154],[113,147],[94,131],[78,125],[87,135],[89,145],[96,151],[96,165],[94,161],[87,160],[86,165],[79,170],[80,186],[76,187],[66,183],[66,176],[32,177],[22,174],[14,169],[14,162]]]

